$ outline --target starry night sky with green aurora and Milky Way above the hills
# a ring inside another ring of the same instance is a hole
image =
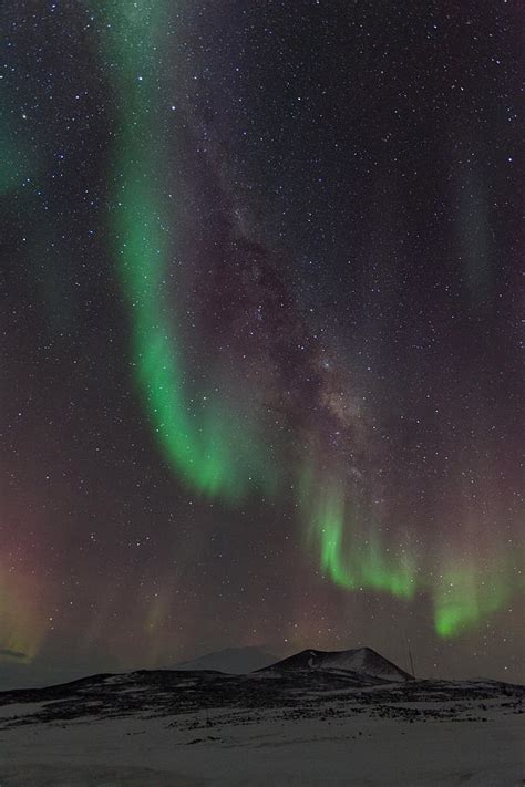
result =
[[[523,20],[2,3],[1,686],[524,677]]]

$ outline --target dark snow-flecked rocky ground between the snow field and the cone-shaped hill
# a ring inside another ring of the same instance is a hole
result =
[[[45,688],[0,693],[0,708],[39,703],[0,719],[0,728],[24,724],[140,716],[202,714],[197,726],[213,726],[214,712],[249,722],[258,712],[279,717],[327,718],[361,713],[418,719],[483,719],[488,706],[522,713],[525,688],[496,681],[405,681],[389,683],[342,670],[267,670],[250,675],[219,672],[138,671],[93,675]],[[240,716],[239,716],[240,714]],[[241,718],[240,718],[241,717]],[[194,722],[195,724],[195,722]]]

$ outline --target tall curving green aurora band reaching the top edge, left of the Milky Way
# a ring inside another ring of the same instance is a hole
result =
[[[132,315],[135,381],[164,455],[193,488],[237,503],[254,484],[274,491],[275,462],[258,439],[256,423],[244,418],[240,424],[209,391],[200,396],[198,410],[192,408],[185,390],[176,317],[165,296],[174,256],[159,76],[167,9],[165,0],[114,0],[105,10],[107,53],[121,106],[112,236]]]

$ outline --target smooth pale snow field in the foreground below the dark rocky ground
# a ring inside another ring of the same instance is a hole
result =
[[[343,718],[181,731],[161,719],[16,727],[8,785],[522,785],[518,717],[404,724]]]

